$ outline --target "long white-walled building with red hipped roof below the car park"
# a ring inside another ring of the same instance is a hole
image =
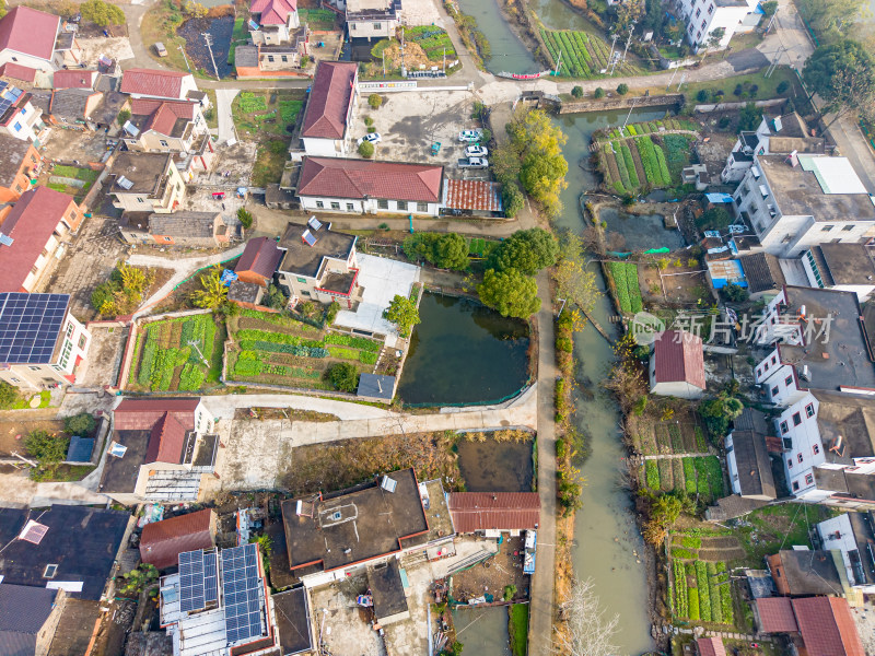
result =
[[[306,211],[436,216],[443,166],[306,157],[298,197]]]

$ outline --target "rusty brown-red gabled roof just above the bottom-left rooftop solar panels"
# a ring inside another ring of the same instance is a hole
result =
[[[213,546],[211,514],[208,508],[147,524],[140,537],[140,560],[164,570],[177,565],[180,553],[209,549]]]

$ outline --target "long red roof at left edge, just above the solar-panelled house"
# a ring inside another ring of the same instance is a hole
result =
[[[0,246],[0,292],[21,292],[51,233],[68,214],[73,199],[48,187],[22,194],[0,232],[12,237],[11,246]]]

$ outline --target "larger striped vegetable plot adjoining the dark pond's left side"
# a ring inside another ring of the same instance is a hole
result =
[[[349,362],[360,373],[371,373],[382,349],[368,338],[250,309],[231,318],[229,330],[234,345],[228,353],[228,377],[241,383],[330,389],[323,375],[331,364]]]

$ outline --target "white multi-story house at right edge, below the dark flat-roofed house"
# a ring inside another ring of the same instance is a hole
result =
[[[806,503],[875,507],[875,399],[809,391],[774,423],[793,496]]]

